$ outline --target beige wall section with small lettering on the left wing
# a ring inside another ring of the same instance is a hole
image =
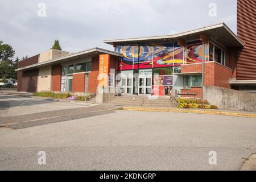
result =
[[[51,91],[52,67],[40,68],[38,72],[37,91]]]

